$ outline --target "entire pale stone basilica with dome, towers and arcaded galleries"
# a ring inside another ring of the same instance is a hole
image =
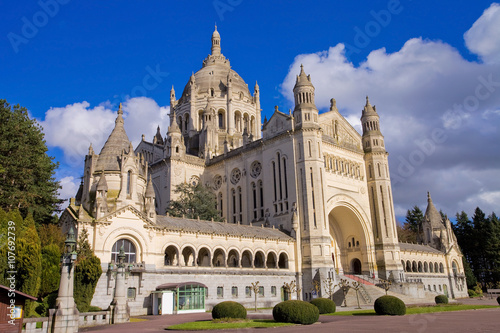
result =
[[[360,135],[335,99],[318,111],[301,67],[294,109],[262,119],[259,86],[251,93],[231,68],[217,29],[211,42],[182,94],[172,87],[166,136],[158,128],[134,148],[120,106],[100,153],[89,148],[60,223],[86,229],[101,259],[93,305],[113,299],[120,249],[132,315],[253,304],[254,296],[259,306],[310,300],[341,278],[390,280],[416,298],[467,296],[450,221],[430,195],[421,242],[398,241],[382,108],[360,101]],[[165,214],[182,183],[209,187],[223,222]]]

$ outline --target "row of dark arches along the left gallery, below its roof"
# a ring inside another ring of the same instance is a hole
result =
[[[257,250],[240,251],[231,249],[226,251],[217,248],[211,251],[208,247],[201,247],[196,251],[191,246],[179,249],[175,245],[169,245],[165,249],[165,266],[195,266],[195,267],[226,267],[226,268],[267,268],[288,269],[288,255],[285,252]]]

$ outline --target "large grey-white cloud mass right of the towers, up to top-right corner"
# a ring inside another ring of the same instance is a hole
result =
[[[394,53],[373,50],[359,66],[346,58],[344,44],[301,54],[281,90],[293,103],[302,63],[316,87],[318,108],[326,110],[334,97],[353,125],[370,96],[381,116],[391,175],[399,176],[393,179],[397,212],[415,204],[425,208],[427,191],[449,214],[478,205],[498,211],[491,198],[500,184],[483,174],[500,174],[500,61],[493,61],[500,59],[499,29],[500,6],[494,4],[465,36],[483,63],[464,59],[445,42],[423,38],[408,40]]]

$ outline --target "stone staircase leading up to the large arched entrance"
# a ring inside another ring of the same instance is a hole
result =
[[[357,306],[358,304],[357,297],[359,297],[360,305],[371,305],[375,302],[377,298],[386,294],[383,288],[378,287],[373,283],[377,281],[369,277],[356,276],[356,275],[343,275],[339,276],[339,278],[346,279],[350,285],[352,285],[354,281],[361,283],[361,286],[358,290],[358,296],[356,296],[356,291],[353,288],[350,288],[349,291],[347,292],[345,299],[347,301],[347,306],[349,307]],[[389,290],[387,292],[387,295],[396,296],[397,298],[401,299],[405,304],[422,304],[422,303],[434,303],[434,296],[436,296],[437,294],[426,291],[424,298],[416,298]],[[335,304],[337,304],[338,306],[343,304],[344,294],[342,290],[340,289],[336,290],[336,292],[333,295],[333,300]]]

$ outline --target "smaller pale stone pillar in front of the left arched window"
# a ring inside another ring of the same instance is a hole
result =
[[[111,302],[113,324],[125,323],[130,320],[130,308],[127,301],[125,287],[125,251],[123,246],[118,254],[118,265],[116,270],[115,296]]]

